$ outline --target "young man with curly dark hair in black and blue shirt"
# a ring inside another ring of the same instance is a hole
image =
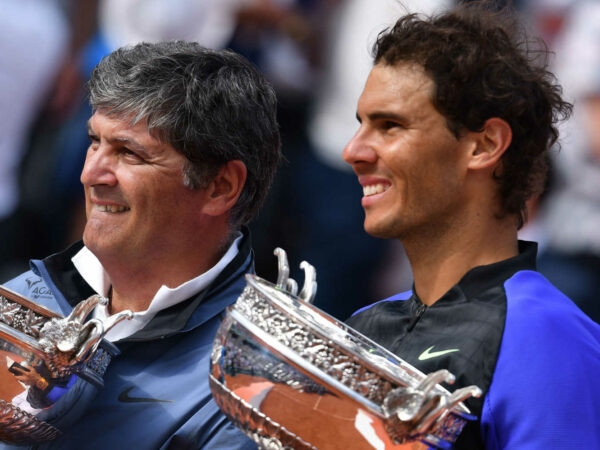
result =
[[[511,11],[463,4],[378,37],[344,149],[365,230],[399,239],[413,289],[348,324],[451,389],[483,390],[462,449],[600,448],[600,326],[519,241],[572,106]]]

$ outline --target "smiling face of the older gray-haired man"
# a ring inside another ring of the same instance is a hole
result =
[[[183,184],[185,157],[152,137],[144,123],[96,112],[81,174],[85,245],[101,260],[155,263],[184,251],[197,232],[204,191]]]

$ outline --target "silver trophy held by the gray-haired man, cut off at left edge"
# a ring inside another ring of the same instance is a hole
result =
[[[34,444],[55,439],[60,430],[39,417],[78,380],[102,386],[116,348],[102,340],[126,311],[109,322],[85,321],[106,299],[98,295],[62,317],[0,286],[0,441]]]

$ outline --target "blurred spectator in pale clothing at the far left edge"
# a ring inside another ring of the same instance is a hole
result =
[[[29,133],[67,51],[69,28],[54,0],[3,0],[0,5],[0,273],[21,270],[19,165]]]

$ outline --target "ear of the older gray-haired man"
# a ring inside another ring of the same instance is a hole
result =
[[[223,164],[206,188],[206,203],[202,212],[219,216],[233,208],[244,189],[247,174],[246,165],[239,159]]]

